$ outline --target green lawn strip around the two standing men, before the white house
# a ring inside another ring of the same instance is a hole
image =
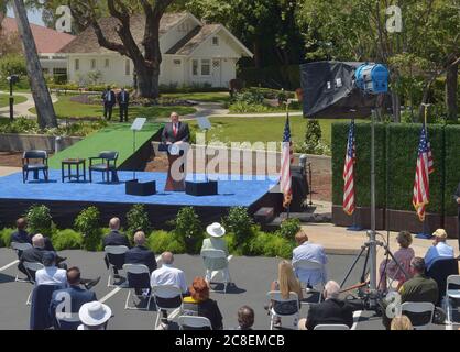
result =
[[[99,105],[86,105],[70,100],[72,96],[61,96],[59,101],[54,105],[57,118],[100,118],[103,116],[103,107]],[[151,120],[155,118],[166,118],[171,112],[176,111],[179,114],[189,114],[196,112],[190,107],[131,107],[130,117],[146,117]],[[35,109],[31,109],[35,113]],[[113,108],[112,120],[118,119],[118,107]]]

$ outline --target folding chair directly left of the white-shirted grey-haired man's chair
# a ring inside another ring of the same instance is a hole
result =
[[[124,309],[149,310],[150,301],[152,299],[152,293],[150,289],[149,267],[142,264],[124,264],[123,271],[127,273],[127,279],[128,279],[128,296],[127,296],[127,301],[124,304]],[[135,293],[135,289],[149,289],[150,290],[150,294],[147,297],[147,304],[145,308],[139,308],[139,307],[129,305],[131,295],[138,298],[145,297],[144,295],[138,295]]]

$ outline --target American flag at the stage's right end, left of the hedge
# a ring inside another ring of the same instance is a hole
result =
[[[286,118],[283,133],[283,151],[281,155],[280,187],[284,195],[283,207],[288,208],[293,200],[291,164],[294,162],[293,142],[291,141],[289,116]]]

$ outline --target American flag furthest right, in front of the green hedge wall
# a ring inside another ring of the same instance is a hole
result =
[[[429,175],[435,170],[431,145],[425,125],[418,144],[417,168],[415,172],[414,197],[412,199],[420,221],[425,220],[426,206],[429,204]]]

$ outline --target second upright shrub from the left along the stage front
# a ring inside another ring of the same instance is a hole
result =
[[[101,246],[102,231],[99,229],[100,212],[96,207],[81,210],[75,219],[75,230],[84,237],[84,248],[87,251],[98,251]]]

